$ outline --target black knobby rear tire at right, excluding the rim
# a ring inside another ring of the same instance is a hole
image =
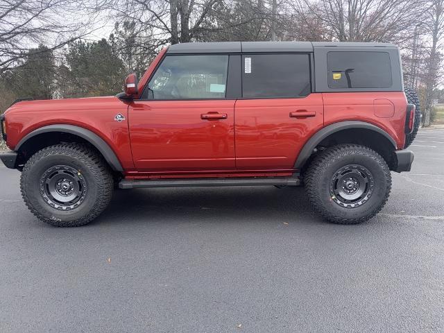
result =
[[[357,207],[342,207],[331,195],[331,183],[338,170],[358,165],[370,171],[373,192]],[[340,144],[321,151],[304,175],[309,201],[321,216],[333,223],[355,224],[367,221],[386,204],[391,191],[391,173],[381,155],[366,146]]]

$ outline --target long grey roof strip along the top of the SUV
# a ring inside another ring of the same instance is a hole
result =
[[[198,42],[169,46],[167,53],[313,52],[318,47],[394,47],[373,42]]]

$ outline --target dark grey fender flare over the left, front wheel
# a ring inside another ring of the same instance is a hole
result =
[[[74,125],[49,125],[49,126],[43,126],[41,128],[37,128],[36,130],[33,130],[31,133],[28,133],[25,135],[15,146],[15,151],[19,151],[20,147],[28,141],[28,139],[31,139],[32,137],[35,137],[35,135],[39,135],[42,133],[50,133],[50,132],[64,132],[69,133],[73,135],[77,135],[78,137],[81,137],[85,139],[87,142],[92,144],[94,147],[97,148],[97,150],[103,155],[106,162],[110,164],[110,167],[114,171],[123,171],[123,168],[119,162],[119,159],[117,158],[117,155],[112,151],[112,148],[109,144],[105,142],[99,135],[96,135],[96,133],[93,133],[90,130],[87,130],[86,128],[80,127],[80,126],[74,126]]]

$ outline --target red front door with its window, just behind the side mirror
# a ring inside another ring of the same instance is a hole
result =
[[[138,171],[231,170],[234,100],[226,55],[167,55],[128,110]]]

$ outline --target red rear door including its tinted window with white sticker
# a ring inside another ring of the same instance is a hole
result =
[[[244,54],[234,124],[237,169],[293,169],[302,146],[323,127],[310,54]]]

